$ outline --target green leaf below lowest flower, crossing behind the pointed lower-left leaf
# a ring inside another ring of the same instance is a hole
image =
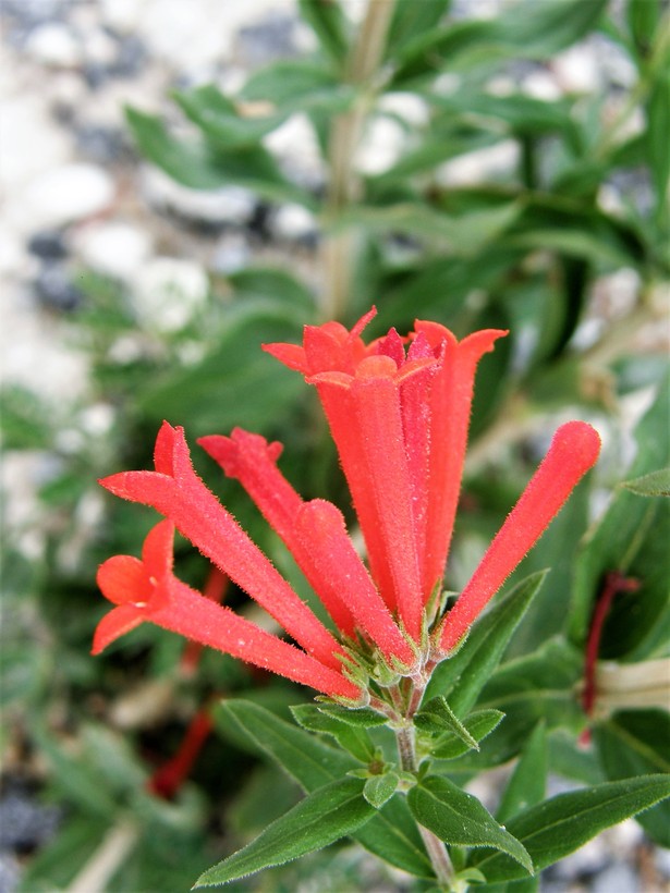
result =
[[[256,753],[273,759],[307,792],[360,766],[341,750],[248,701],[223,701],[214,715],[223,734],[236,732]],[[389,800],[353,836],[397,868],[417,877],[430,877],[430,860],[404,799]]]

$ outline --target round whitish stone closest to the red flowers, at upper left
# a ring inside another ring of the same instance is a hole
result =
[[[208,291],[207,276],[198,264],[157,257],[137,277],[135,308],[147,328],[178,331],[204,305]]]

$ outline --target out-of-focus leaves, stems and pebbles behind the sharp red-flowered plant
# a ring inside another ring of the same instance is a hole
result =
[[[351,519],[313,394],[259,345],[297,342],[307,322],[352,325],[373,303],[371,335],[416,317],[459,337],[511,329],[477,379],[449,588],[462,588],[557,425],[598,427],[598,469],[519,572],[553,567],[508,656],[560,639],[573,670],[558,700],[540,683],[528,693],[516,727],[556,727],[557,791],[621,776],[625,747],[634,771],[667,770],[668,714],[634,696],[600,705],[590,749],[575,744],[604,573],[642,590],[616,601],[601,657],[667,657],[668,512],[617,489],[668,464],[667,4],[0,11],[0,891],[187,890],[296,802],[216,715],[214,731],[197,720],[228,695],[285,714],[309,693],[148,625],[89,657],[106,610],[96,568],[137,554],[155,521],[95,481],[149,467],[163,418],[192,445],[239,425],[281,440],[304,497]],[[194,460],[308,598],[241,489],[197,449]],[[217,588],[184,542],[178,555],[184,579]],[[226,598],[251,610],[234,589]],[[485,800],[514,754],[511,739],[484,754]],[[667,889],[668,816],[645,816],[547,871],[541,889]],[[423,888],[339,846],[233,889]]]

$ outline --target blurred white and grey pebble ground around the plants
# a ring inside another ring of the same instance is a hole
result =
[[[473,5],[485,12],[487,3]],[[160,306],[169,328],[180,322],[180,306],[169,305],[174,282],[197,301],[207,271],[233,271],[258,253],[302,257],[314,243],[314,221],[297,207],[269,209],[241,188],[211,195],[176,186],[136,157],[123,118],[124,103],[172,114],[166,97],[175,86],[216,81],[234,89],[249,70],[300,53],[313,38],[290,0],[3,0],[1,12],[3,377],[58,401],[86,390],[85,358],[69,347],[68,322],[82,299],[82,267],[126,283],[147,315]],[[596,71],[593,53],[568,58],[552,78],[538,75],[537,89]],[[300,122],[272,139],[287,163],[297,158],[300,175],[318,184]],[[7,457],[14,502],[31,498],[38,473]],[[11,786],[1,810],[0,891],[10,893],[19,865],[10,854],[47,840],[59,810]],[[668,854],[648,847],[630,821],[548,871],[541,889],[660,893],[668,877]]]

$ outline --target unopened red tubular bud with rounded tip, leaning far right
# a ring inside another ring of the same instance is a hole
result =
[[[562,425],[549,452],[508,515],[472,579],[447,614],[439,644],[451,651],[528,552],[600,451],[598,433],[584,421]]]

